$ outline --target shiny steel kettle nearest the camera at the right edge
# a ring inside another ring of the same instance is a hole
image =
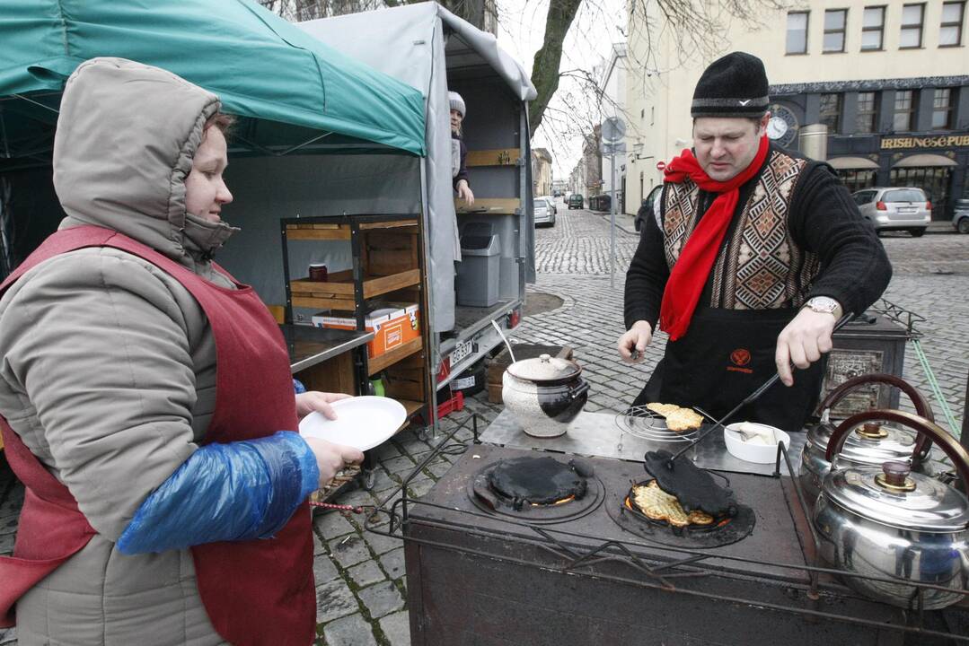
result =
[[[933,422],[900,411],[846,419],[828,456],[860,425],[891,421],[927,435],[969,485],[969,453]],[[835,467],[825,476],[813,513],[821,556],[844,570],[845,583],[873,600],[938,609],[969,599],[969,499],[906,462]],[[915,584],[927,584],[922,587]]]

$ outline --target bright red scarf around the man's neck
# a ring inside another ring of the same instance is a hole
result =
[[[690,326],[693,312],[697,309],[703,286],[710,275],[713,261],[727,234],[727,228],[734,217],[740,187],[758,173],[767,157],[767,138],[761,138],[760,147],[754,161],[732,179],[718,182],[710,179],[701,168],[693,151],[684,149],[679,157],[674,157],[664,171],[664,181],[679,184],[687,177],[692,179],[703,191],[719,193],[710,208],[700,218],[697,228],[690,233],[679,258],[672,266],[663,304],[660,307],[660,328],[670,334],[670,340],[683,336]]]

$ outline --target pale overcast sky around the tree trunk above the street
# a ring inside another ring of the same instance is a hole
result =
[[[516,57],[529,73],[535,52],[542,46],[549,0],[497,0],[498,42]],[[613,43],[626,40],[626,3],[624,0],[585,0],[569,29],[562,47],[560,71],[592,71],[608,58]],[[581,139],[576,119],[563,118],[573,112],[584,97],[578,80],[563,77],[548,107],[546,119],[535,138],[533,148],[547,148],[552,155],[555,179],[568,179],[581,155]],[[578,108],[583,111],[582,108]],[[552,114],[557,113],[558,119]],[[584,129],[582,129],[584,130]],[[572,132],[569,132],[572,131]]]

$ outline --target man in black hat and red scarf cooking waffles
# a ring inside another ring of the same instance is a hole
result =
[[[889,284],[885,250],[834,171],[766,138],[768,102],[764,63],[744,52],[714,61],[697,83],[693,149],[667,165],[626,275],[619,354],[637,360],[657,323],[670,334],[636,405],[719,417],[776,370],[789,387],[734,421],[800,430],[834,323]]]

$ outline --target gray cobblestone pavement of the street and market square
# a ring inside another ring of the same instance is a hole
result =
[[[647,350],[646,360],[627,365],[617,360],[616,338],[622,333],[624,272],[635,251],[637,235],[617,230],[617,272],[610,287],[610,238],[606,219],[589,211],[560,207],[554,228],[536,234],[539,279],[533,292],[563,299],[561,307],[526,319],[515,331],[524,343],[568,344],[576,350],[592,386],[586,410],[618,413],[636,396],[663,352],[665,335]],[[626,221],[629,219],[626,218]],[[629,225],[628,222],[626,222]],[[629,231],[632,227],[628,226]],[[886,297],[923,317],[922,346],[942,391],[961,422],[966,374],[969,371],[969,235],[926,235],[884,238],[894,266]],[[922,368],[912,352],[905,354],[905,377],[930,395]],[[935,402],[936,414],[941,410]],[[485,423],[501,412],[485,393],[468,400],[464,412],[442,420],[450,432],[469,413]],[[459,431],[468,441],[470,432]],[[409,429],[375,451],[377,471],[371,491],[354,489],[336,502],[376,505],[429,454],[435,440]],[[420,496],[457,459],[442,455],[412,480],[410,492]],[[0,554],[10,553],[22,487],[6,464],[0,465]],[[362,517],[349,512],[318,513],[314,571],[317,584],[317,644],[328,646],[404,646],[410,643],[406,609],[403,548],[399,540],[363,531]],[[16,643],[15,631],[0,631],[0,645]]]

